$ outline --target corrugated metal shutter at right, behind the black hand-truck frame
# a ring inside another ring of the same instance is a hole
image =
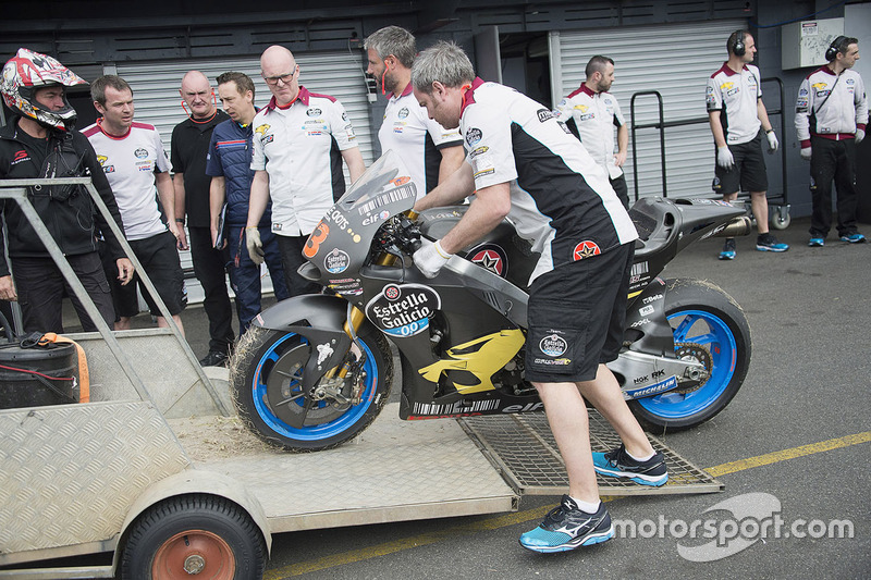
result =
[[[553,98],[559,102],[577,89],[586,78],[584,70],[590,58],[604,54],[616,63],[611,92],[619,101],[627,123],[633,95],[648,90],[662,95],[666,122],[707,119],[706,83],[726,60],[729,34],[746,25],[744,21],[729,20],[550,33]],[[768,95],[765,101],[771,98],[774,97]],[[655,97],[638,97],[635,115],[638,125],[657,122]],[[637,159],[631,157],[629,143],[624,165],[629,198],[635,195],[634,163],[638,163],[639,196],[662,195],[659,133],[639,129],[636,139]],[[713,195],[713,138],[707,121],[665,129],[665,166],[668,197]]]

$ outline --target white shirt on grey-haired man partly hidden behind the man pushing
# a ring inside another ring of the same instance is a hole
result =
[[[390,95],[378,140],[381,143],[382,153],[392,149],[403,160],[417,185],[417,198],[420,199],[438,185],[438,168],[441,162],[438,149],[462,146],[463,137],[458,128],[446,129],[430,119],[427,110],[415,99],[412,89],[412,84],[408,83],[402,95]],[[430,180],[427,180],[428,169]]]

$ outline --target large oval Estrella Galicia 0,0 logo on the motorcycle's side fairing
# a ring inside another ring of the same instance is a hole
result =
[[[388,284],[366,305],[366,317],[391,336],[414,336],[441,308],[439,294],[422,284]]]

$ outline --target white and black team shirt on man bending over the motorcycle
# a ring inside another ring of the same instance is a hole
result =
[[[459,131],[475,188],[507,183],[508,220],[541,252],[529,284],[638,238],[608,175],[552,111],[480,78],[463,102]]]

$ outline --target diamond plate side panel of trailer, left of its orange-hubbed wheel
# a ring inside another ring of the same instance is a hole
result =
[[[0,411],[0,563],[113,538],[131,504],[188,459],[148,403]]]

